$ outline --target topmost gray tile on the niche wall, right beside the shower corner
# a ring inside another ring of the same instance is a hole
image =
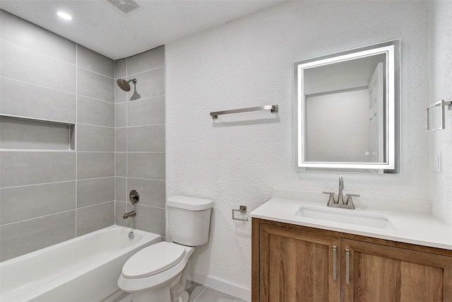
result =
[[[77,45],[77,66],[95,71],[104,76],[114,77],[114,60],[94,52],[80,44]]]

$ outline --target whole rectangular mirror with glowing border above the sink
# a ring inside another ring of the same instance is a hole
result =
[[[294,67],[295,170],[398,173],[400,40]]]

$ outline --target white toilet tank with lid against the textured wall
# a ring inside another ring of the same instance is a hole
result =
[[[209,240],[210,199],[172,196],[167,199],[169,238],[182,245],[203,245]]]

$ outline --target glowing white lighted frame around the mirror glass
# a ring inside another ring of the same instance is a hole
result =
[[[386,87],[385,87],[385,156],[383,163],[358,162],[323,162],[305,161],[304,125],[305,95],[303,70],[314,66],[322,66],[335,62],[386,54]],[[382,42],[365,47],[358,47],[343,52],[335,52],[320,57],[313,57],[294,63],[294,121],[295,121],[295,170],[296,171],[340,171],[368,173],[398,173],[400,170],[400,39]],[[316,170],[316,168],[318,170]]]

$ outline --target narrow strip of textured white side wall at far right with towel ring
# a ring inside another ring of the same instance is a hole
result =
[[[430,61],[429,103],[452,100],[452,1],[429,3]],[[426,104],[427,106],[427,104]],[[429,133],[431,141],[430,162],[441,152],[442,171],[429,171],[433,213],[452,223],[452,110],[446,110],[446,129]]]

